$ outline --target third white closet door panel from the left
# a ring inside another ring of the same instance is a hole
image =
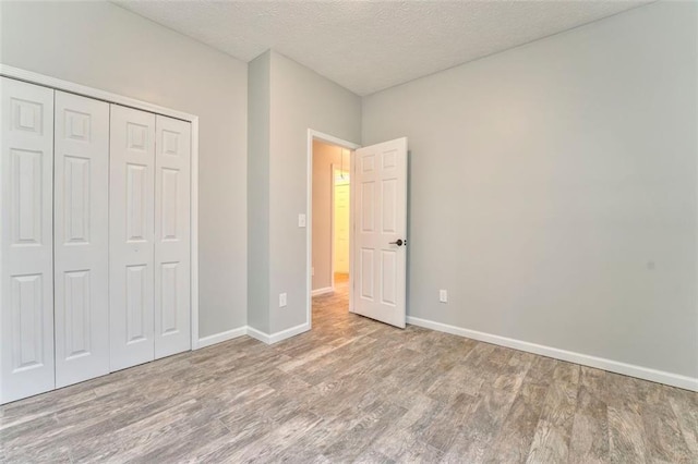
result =
[[[155,114],[111,105],[111,370],[154,359]]]

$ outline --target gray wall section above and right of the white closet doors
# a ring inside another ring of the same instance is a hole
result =
[[[200,117],[200,334],[246,323],[248,66],[106,2],[2,2],[0,61]]]

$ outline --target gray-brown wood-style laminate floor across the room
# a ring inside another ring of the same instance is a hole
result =
[[[698,462],[697,393],[346,308],[1,406],[0,462]]]

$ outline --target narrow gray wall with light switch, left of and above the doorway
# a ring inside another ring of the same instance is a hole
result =
[[[348,142],[361,138],[361,99],[294,61],[272,52],[269,158],[269,331],[305,322],[308,130]],[[253,180],[250,180],[253,182]],[[288,306],[278,307],[279,293]]]

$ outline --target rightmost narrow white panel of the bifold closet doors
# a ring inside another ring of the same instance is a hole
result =
[[[191,124],[157,115],[155,149],[155,357],[191,349]]]

